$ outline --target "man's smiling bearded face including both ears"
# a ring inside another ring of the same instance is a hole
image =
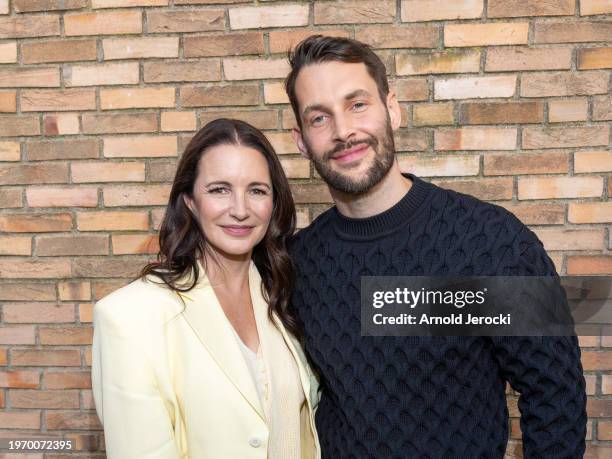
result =
[[[394,161],[395,95],[383,103],[364,64],[335,61],[304,67],[295,90],[302,130],[294,137],[327,184],[355,195],[380,182]]]

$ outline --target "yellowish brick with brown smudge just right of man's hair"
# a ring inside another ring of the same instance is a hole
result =
[[[395,68],[398,75],[478,73],[480,51],[449,50],[427,54],[399,53],[395,56]]]

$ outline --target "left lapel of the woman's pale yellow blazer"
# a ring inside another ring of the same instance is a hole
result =
[[[232,325],[225,317],[202,265],[199,268],[198,284],[189,292],[181,294],[185,300],[183,315],[231,383],[265,420],[255,382],[238,347]]]

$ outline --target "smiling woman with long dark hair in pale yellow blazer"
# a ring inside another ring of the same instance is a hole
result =
[[[207,124],[178,165],[156,263],[94,309],[110,459],[318,458],[317,382],[287,314],[289,184],[257,129]]]

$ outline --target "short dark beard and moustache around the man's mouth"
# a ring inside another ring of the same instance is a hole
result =
[[[351,195],[366,193],[378,184],[378,182],[387,175],[395,160],[395,143],[393,141],[393,129],[391,128],[389,115],[387,115],[384,133],[382,135],[369,136],[365,139],[339,143],[332,150],[325,152],[321,159],[312,154],[312,149],[305,138],[304,143],[311,154],[316,171],[323,180],[325,180],[327,185],[334,190]],[[331,168],[330,162],[334,154],[352,148],[355,145],[363,144],[369,145],[376,153],[372,165],[365,172],[363,178],[353,179]]]

